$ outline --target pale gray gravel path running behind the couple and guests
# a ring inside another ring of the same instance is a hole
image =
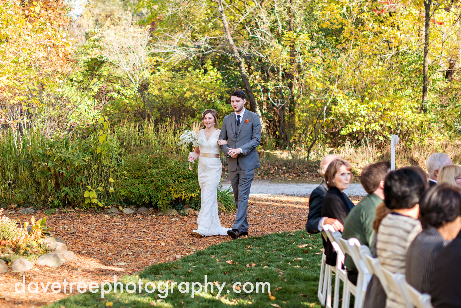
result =
[[[221,182],[227,189],[231,186],[229,180]],[[289,195],[289,196],[309,196],[319,184],[308,183],[272,183],[267,180],[254,180],[251,184],[250,196],[262,195]],[[366,196],[366,191],[361,184],[350,184],[344,190],[348,196]]]

